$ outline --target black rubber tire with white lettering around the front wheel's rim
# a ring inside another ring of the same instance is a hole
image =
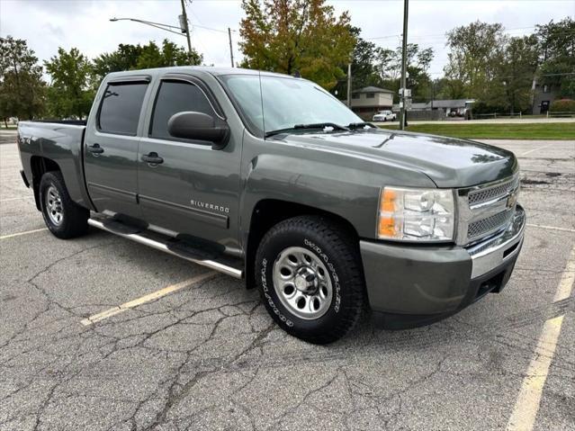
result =
[[[301,319],[283,304],[284,300],[275,291],[274,265],[289,247],[304,248],[328,269],[332,297],[326,301],[327,311],[317,319]],[[294,337],[313,344],[328,344],[344,337],[361,316],[364,275],[357,241],[328,218],[300,216],[275,225],[257,248],[255,271],[266,310]]]

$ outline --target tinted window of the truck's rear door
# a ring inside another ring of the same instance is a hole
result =
[[[98,117],[100,130],[135,135],[147,88],[145,83],[108,85]]]

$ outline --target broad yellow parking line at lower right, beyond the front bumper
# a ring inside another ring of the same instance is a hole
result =
[[[565,265],[561,281],[553,302],[562,301],[571,296],[575,282],[575,247]],[[535,348],[535,355],[527,368],[526,377],[521,385],[515,409],[508,420],[508,431],[530,431],[535,425],[535,418],[543,395],[549,367],[555,355],[557,340],[561,334],[563,316],[548,319]]]

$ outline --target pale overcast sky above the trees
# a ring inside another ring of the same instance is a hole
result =
[[[189,0],[186,0],[189,4]],[[349,11],[352,23],[365,39],[382,47],[400,44],[402,0],[329,1],[337,13]],[[411,0],[409,41],[435,49],[430,72],[440,76],[445,65],[445,31],[475,20],[501,22],[510,35],[527,34],[538,23],[575,18],[575,0]],[[0,35],[28,41],[40,59],[55,55],[58,46],[76,47],[89,58],[109,52],[119,43],[174,40],[184,37],[136,22],[110,22],[112,17],[131,17],[177,25],[179,0],[0,0]],[[243,16],[238,0],[193,0],[188,5],[193,25],[192,44],[208,65],[229,66],[228,27],[232,30],[234,56],[238,60],[238,26]],[[208,27],[208,28],[206,28]],[[210,30],[212,29],[212,30]]]

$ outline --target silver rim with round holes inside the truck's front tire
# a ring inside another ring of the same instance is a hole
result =
[[[283,306],[300,319],[318,319],[333,297],[328,269],[303,247],[287,247],[274,262],[274,290]]]

